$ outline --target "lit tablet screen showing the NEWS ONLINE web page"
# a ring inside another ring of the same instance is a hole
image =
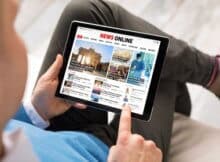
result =
[[[78,26],[59,93],[143,115],[160,43]]]

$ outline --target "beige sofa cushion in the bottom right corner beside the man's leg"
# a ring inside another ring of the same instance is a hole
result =
[[[220,129],[175,113],[168,162],[220,162]]]

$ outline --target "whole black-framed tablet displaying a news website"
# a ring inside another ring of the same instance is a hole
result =
[[[56,96],[148,121],[168,46],[165,37],[73,21]]]

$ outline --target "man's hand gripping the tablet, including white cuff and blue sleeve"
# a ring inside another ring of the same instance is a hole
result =
[[[63,58],[58,55],[54,63],[39,79],[33,92],[31,101],[21,104],[14,119],[40,128],[47,128],[49,120],[66,112],[71,105],[55,97],[58,85],[58,74],[62,67]],[[75,108],[85,109],[86,106],[80,103],[73,105]]]

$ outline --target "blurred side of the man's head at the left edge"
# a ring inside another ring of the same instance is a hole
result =
[[[17,0],[0,0],[0,131],[17,111],[26,78],[25,46],[14,29]]]

